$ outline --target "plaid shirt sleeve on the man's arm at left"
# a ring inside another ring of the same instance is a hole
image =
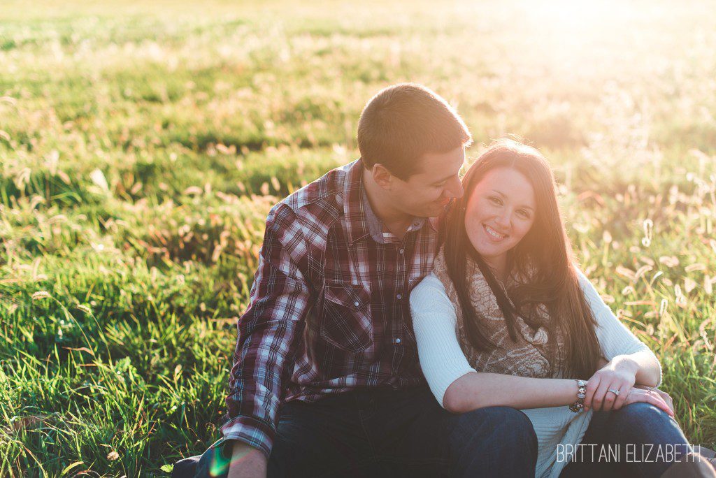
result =
[[[225,439],[249,444],[267,458],[276,435],[286,358],[295,350],[308,310],[309,288],[301,273],[305,257],[296,215],[279,203],[266,220],[249,306],[238,321],[228,421],[221,426]]]

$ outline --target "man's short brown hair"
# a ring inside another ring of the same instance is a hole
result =
[[[420,172],[417,159],[425,153],[449,152],[472,142],[458,112],[421,84],[380,90],[358,121],[358,149],[365,167],[379,163],[402,180]]]

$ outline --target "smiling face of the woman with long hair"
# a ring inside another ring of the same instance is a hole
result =
[[[490,170],[465,206],[465,230],[475,250],[500,270],[507,251],[528,233],[536,213],[531,182],[510,167]]]

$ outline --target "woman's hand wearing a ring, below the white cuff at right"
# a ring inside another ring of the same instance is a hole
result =
[[[627,356],[616,356],[591,376],[586,384],[584,409],[619,410],[637,380],[637,366]],[[615,394],[610,390],[617,390]]]

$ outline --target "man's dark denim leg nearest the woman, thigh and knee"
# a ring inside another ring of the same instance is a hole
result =
[[[427,387],[357,395],[377,457],[364,476],[533,477],[537,440],[531,421],[509,407],[451,414]]]

